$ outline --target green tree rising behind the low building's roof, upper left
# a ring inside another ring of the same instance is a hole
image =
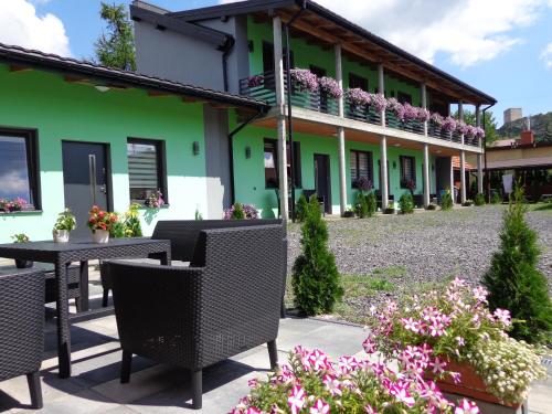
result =
[[[96,60],[107,67],[136,71],[132,25],[125,4],[102,2],[99,15],[106,21],[108,33],[102,33],[94,44]]]

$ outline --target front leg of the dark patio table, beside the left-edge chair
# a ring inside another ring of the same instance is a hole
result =
[[[67,304],[67,266],[68,263],[55,263],[55,279],[57,283],[57,362],[60,378],[71,376],[71,331]]]

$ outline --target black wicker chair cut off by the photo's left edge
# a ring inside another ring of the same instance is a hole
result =
[[[26,375],[33,408],[42,408],[44,274],[0,275],[0,382]]]

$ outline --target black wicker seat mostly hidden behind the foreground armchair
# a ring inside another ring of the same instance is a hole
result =
[[[282,261],[282,273],[284,274],[284,290],[287,276],[287,238],[286,226],[282,220],[163,220],[158,221],[151,238],[170,240],[171,241],[171,258],[173,261],[191,262],[195,243],[202,230],[210,229],[231,229],[258,225],[275,225],[282,227],[282,248],[284,251],[284,259]],[[158,258],[150,256],[150,258]],[[102,287],[104,288],[103,306],[106,307],[112,289],[112,282],[106,266],[100,266]],[[284,296],[282,296],[280,316],[285,317]]]

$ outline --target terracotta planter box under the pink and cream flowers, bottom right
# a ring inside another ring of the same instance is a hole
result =
[[[458,372],[460,374],[460,382],[455,383],[453,379],[447,375],[444,379],[437,380],[437,388],[446,393],[456,394],[460,396],[465,396],[473,400],[484,401],[486,403],[498,404],[509,410],[505,410],[506,412],[512,412],[519,408],[522,403],[509,404],[500,401],[497,396],[490,393],[485,384],[484,380],[479,374],[475,371],[475,369],[469,363],[458,363],[456,361],[452,361],[446,359],[447,361],[447,370],[453,372]],[[426,373],[424,376],[426,379],[434,379],[433,373]],[[498,413],[499,411],[497,411]],[[482,412],[485,414],[485,412]]]

